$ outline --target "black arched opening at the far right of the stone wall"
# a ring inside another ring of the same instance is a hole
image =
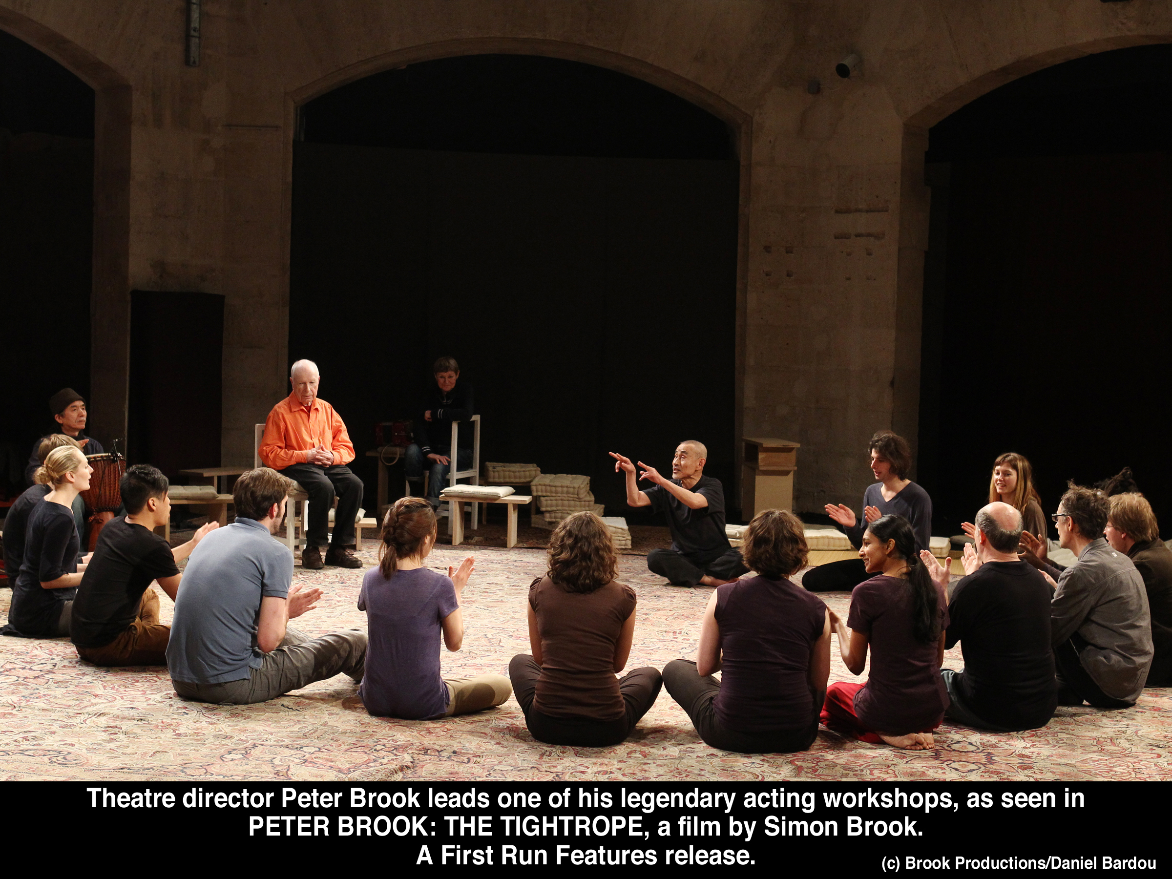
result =
[[[1166,530],[1172,46],[1009,83],[933,128],[926,158],[919,479],[934,533],[972,519],[1004,451],[1031,461],[1047,512],[1068,478],[1131,466]]]

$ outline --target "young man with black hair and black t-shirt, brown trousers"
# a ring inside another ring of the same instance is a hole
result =
[[[170,483],[150,464],[129,468],[118,483],[127,515],[107,523],[77,587],[69,638],[95,666],[165,666],[171,627],[158,621],[157,580],[175,601],[176,567],[218,522],[209,522],[173,550],[155,533],[171,516]]]

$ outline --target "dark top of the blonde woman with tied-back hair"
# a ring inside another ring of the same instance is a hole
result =
[[[77,573],[80,546],[73,510],[49,500],[33,506],[25,532],[25,561],[8,611],[8,625],[20,634],[28,638],[56,634],[62,604],[71,601],[77,588],[46,590],[41,584]]]

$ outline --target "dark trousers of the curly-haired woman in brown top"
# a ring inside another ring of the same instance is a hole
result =
[[[640,718],[650,710],[659,696],[663,679],[659,669],[647,666],[628,672],[619,679],[619,693],[626,713],[613,721],[592,717],[550,717],[533,708],[533,694],[541,667],[527,653],[520,653],[509,663],[517,704],[525,713],[525,725],[533,738],[547,744],[573,744],[585,748],[605,748],[619,744],[631,735]]]

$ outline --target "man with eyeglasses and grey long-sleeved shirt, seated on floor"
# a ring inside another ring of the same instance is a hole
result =
[[[1110,510],[1102,491],[1070,483],[1052,516],[1058,544],[1078,557],[1061,572],[1042,563],[1055,586],[1050,641],[1059,706],[1085,701],[1096,708],[1130,708],[1152,663],[1144,579],[1103,537]]]

